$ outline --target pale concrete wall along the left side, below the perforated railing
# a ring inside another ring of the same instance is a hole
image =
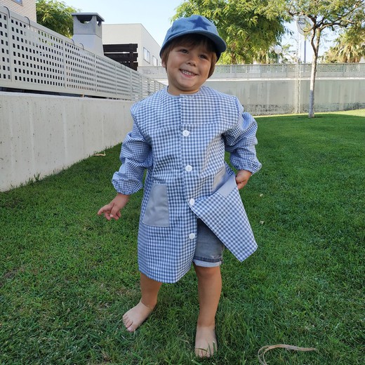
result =
[[[132,102],[0,92],[0,191],[121,142]]]

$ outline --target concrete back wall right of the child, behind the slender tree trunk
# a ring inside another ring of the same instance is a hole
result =
[[[236,95],[253,115],[291,114],[296,111],[295,79],[208,80],[206,85]],[[308,112],[310,80],[300,81],[299,112]],[[365,108],[365,79],[317,79],[316,112]]]

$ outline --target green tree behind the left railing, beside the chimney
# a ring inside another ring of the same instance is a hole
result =
[[[36,0],[36,22],[69,38],[73,35],[72,13],[79,10],[57,0]]]

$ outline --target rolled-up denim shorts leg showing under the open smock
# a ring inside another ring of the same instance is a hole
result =
[[[195,248],[193,263],[201,267],[220,266],[223,260],[225,245],[217,236],[198,219],[197,248]]]

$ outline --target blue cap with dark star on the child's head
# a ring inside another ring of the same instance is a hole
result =
[[[220,54],[227,48],[225,41],[220,38],[217,28],[210,20],[202,15],[192,15],[189,18],[179,18],[173,22],[161,46],[160,56],[170,41],[185,34],[203,34],[207,36],[215,44],[217,58],[220,58]]]

